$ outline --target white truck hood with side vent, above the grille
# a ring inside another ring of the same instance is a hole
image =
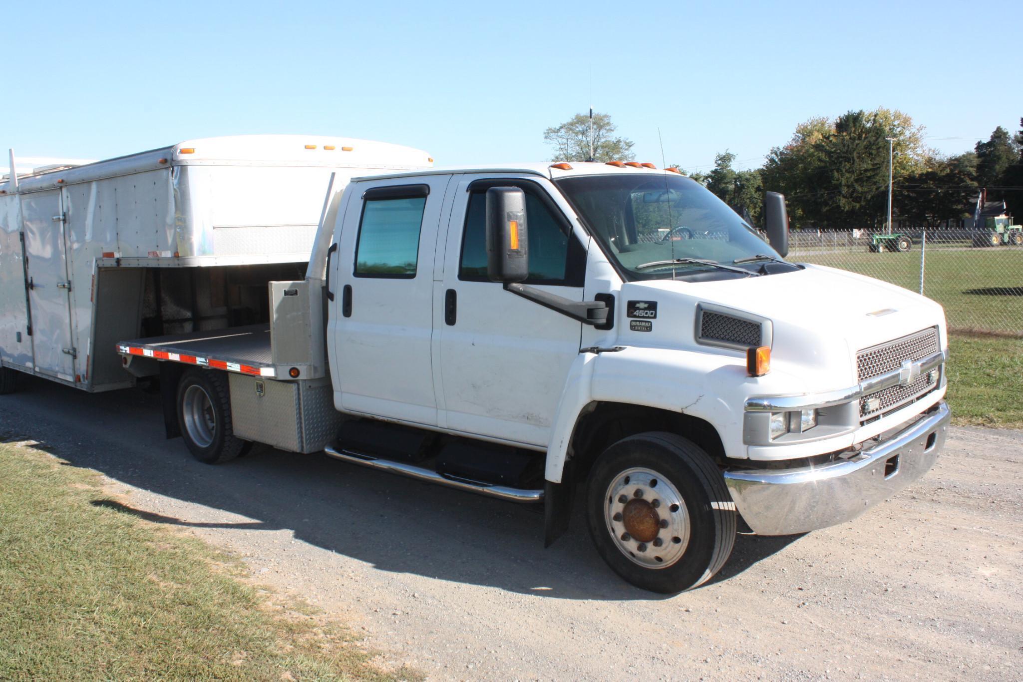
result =
[[[649,332],[631,328],[626,317],[629,301],[657,302]],[[622,286],[619,336],[630,345],[681,345],[704,353],[742,355],[697,344],[694,320],[701,303],[770,319],[773,367],[799,375],[809,390],[854,383],[857,351],[925,327],[939,326],[940,343],[947,346],[944,311],[937,303],[894,284],[816,265],[710,282],[628,282]]]

